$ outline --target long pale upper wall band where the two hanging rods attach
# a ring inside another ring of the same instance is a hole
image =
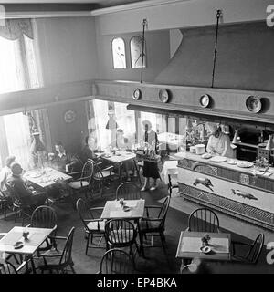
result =
[[[185,0],[164,5],[152,5],[104,15],[96,14],[100,35],[137,32],[142,19],[148,20],[148,29],[163,30],[216,24],[216,10],[223,11],[222,23],[266,20],[271,0]],[[110,9],[109,9],[110,11]],[[113,11],[113,9],[112,9]]]

